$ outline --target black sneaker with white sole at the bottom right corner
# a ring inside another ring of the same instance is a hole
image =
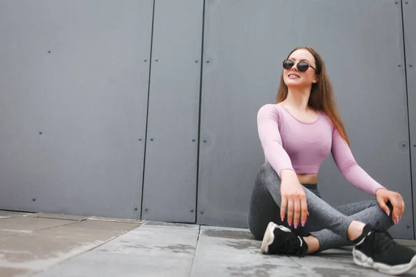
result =
[[[384,230],[372,228],[352,250],[356,265],[390,275],[404,274],[416,267],[416,251],[398,244]]]

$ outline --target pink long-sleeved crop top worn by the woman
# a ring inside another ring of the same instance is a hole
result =
[[[332,153],[345,179],[365,193],[384,188],[356,163],[348,144],[323,112],[311,123],[297,120],[283,105],[267,104],[257,114],[259,138],[266,161],[280,177],[282,170],[318,174],[322,161]]]

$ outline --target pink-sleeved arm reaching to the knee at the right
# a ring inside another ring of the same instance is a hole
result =
[[[358,166],[349,146],[340,136],[336,127],[333,128],[332,132],[331,152],[336,166],[338,166],[345,179],[353,186],[359,190],[363,190],[365,193],[370,193],[370,195],[376,195],[377,190],[384,188],[372,179],[363,168]]]

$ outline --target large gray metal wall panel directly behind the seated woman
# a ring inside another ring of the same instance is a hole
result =
[[[209,63],[202,71],[198,223],[247,226],[254,178],[264,161],[257,111],[275,102],[281,60],[300,45],[315,47],[327,63],[358,164],[411,206],[399,3],[209,0],[204,37]],[[371,198],[347,183],[331,156],[319,183],[330,204]],[[391,229],[393,235],[413,238],[406,225],[413,225],[411,213]]]

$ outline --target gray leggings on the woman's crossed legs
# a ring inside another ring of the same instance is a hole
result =
[[[257,240],[263,239],[268,223],[275,222],[288,227],[297,235],[313,235],[320,243],[319,251],[324,251],[353,245],[347,239],[347,229],[352,220],[379,226],[385,230],[394,224],[390,203],[388,203],[390,216],[381,210],[376,199],[332,207],[320,198],[318,188],[304,187],[309,217],[304,227],[298,226],[294,229],[293,224],[288,226],[286,220],[284,222],[280,220],[280,183],[279,175],[272,166],[267,162],[264,163],[252,190],[248,212],[248,227]]]

